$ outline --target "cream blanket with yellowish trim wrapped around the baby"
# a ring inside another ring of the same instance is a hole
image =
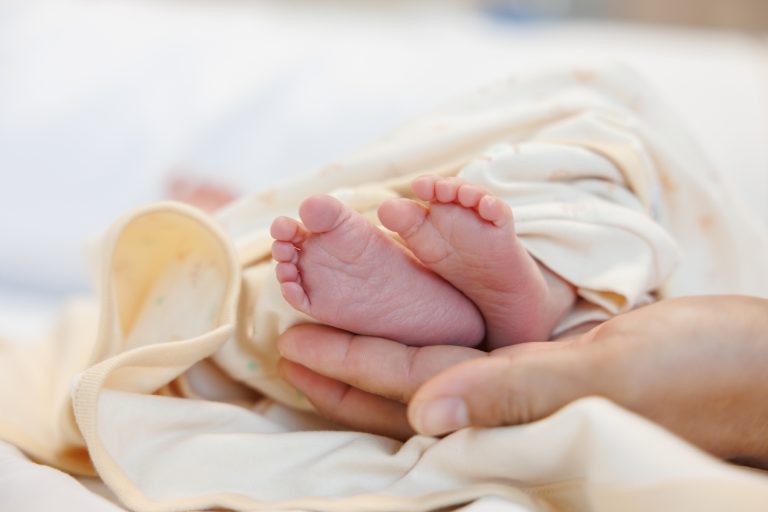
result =
[[[635,75],[510,77],[215,218],[161,203],[118,220],[95,251],[96,300],[70,303],[50,340],[0,345],[0,438],[98,475],[140,511],[427,510],[488,495],[542,511],[765,508],[762,474],[598,398],[404,444],[308,412],[274,370],[276,337],[307,319],[280,297],[269,223],[325,192],[375,220],[423,173],[459,173],[513,206],[526,247],[577,287],[560,330],[654,297],[768,294],[766,234]],[[3,453],[0,469],[24,462]]]

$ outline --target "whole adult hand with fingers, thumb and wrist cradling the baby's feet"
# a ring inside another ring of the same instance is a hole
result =
[[[285,378],[321,414],[360,430],[405,439],[514,425],[599,395],[718,457],[768,467],[766,299],[673,299],[491,353],[309,325],[278,347]]]

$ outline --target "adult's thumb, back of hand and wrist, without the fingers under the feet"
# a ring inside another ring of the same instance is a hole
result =
[[[416,430],[526,423],[600,395],[721,458],[768,464],[768,300],[659,302],[545,351],[494,355],[421,386]]]

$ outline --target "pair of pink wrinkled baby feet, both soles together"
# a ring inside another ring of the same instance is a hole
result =
[[[379,208],[405,247],[330,196],[272,223],[285,300],[326,325],[408,345],[546,339],[575,300],[518,240],[509,206],[456,178],[415,180]],[[479,310],[479,311],[478,311]]]

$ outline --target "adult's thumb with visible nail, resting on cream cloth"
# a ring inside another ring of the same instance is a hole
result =
[[[468,426],[528,423],[610,389],[597,347],[550,345],[518,356],[467,361],[439,373],[411,399],[411,426],[420,434],[440,435]]]

